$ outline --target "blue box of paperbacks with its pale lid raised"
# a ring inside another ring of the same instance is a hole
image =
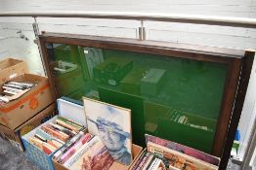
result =
[[[41,169],[54,170],[52,157],[60,155],[85,133],[83,107],[58,99],[59,115],[21,137],[26,156]],[[64,149],[64,150],[63,150]]]

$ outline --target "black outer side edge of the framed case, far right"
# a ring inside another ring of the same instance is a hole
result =
[[[239,85],[235,97],[234,112],[232,115],[229,131],[225,142],[224,152],[222,155],[221,164],[219,168],[220,170],[225,170],[227,168],[229,158],[231,156],[231,151],[235,139],[235,131],[237,129],[239,119],[241,116],[241,111],[250,80],[254,55],[255,51],[245,51],[244,58],[242,60],[242,70],[240,73]]]

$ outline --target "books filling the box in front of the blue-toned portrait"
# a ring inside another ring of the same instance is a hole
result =
[[[62,148],[53,158],[72,170],[107,170],[114,162],[101,138],[90,133],[84,134],[71,147]]]

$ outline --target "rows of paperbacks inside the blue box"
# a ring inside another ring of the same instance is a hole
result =
[[[44,153],[51,154],[67,145],[68,140],[79,139],[84,134],[82,129],[84,129],[83,125],[70,119],[58,117],[37,129],[35,135],[29,137],[29,142]]]

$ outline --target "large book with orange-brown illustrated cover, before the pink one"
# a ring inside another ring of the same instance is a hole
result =
[[[194,170],[218,170],[218,166],[212,165],[208,162],[194,158],[185,153],[179,153],[169,148],[157,145],[152,142],[147,144],[148,152],[157,153],[169,160],[170,167],[179,169],[194,169]]]

